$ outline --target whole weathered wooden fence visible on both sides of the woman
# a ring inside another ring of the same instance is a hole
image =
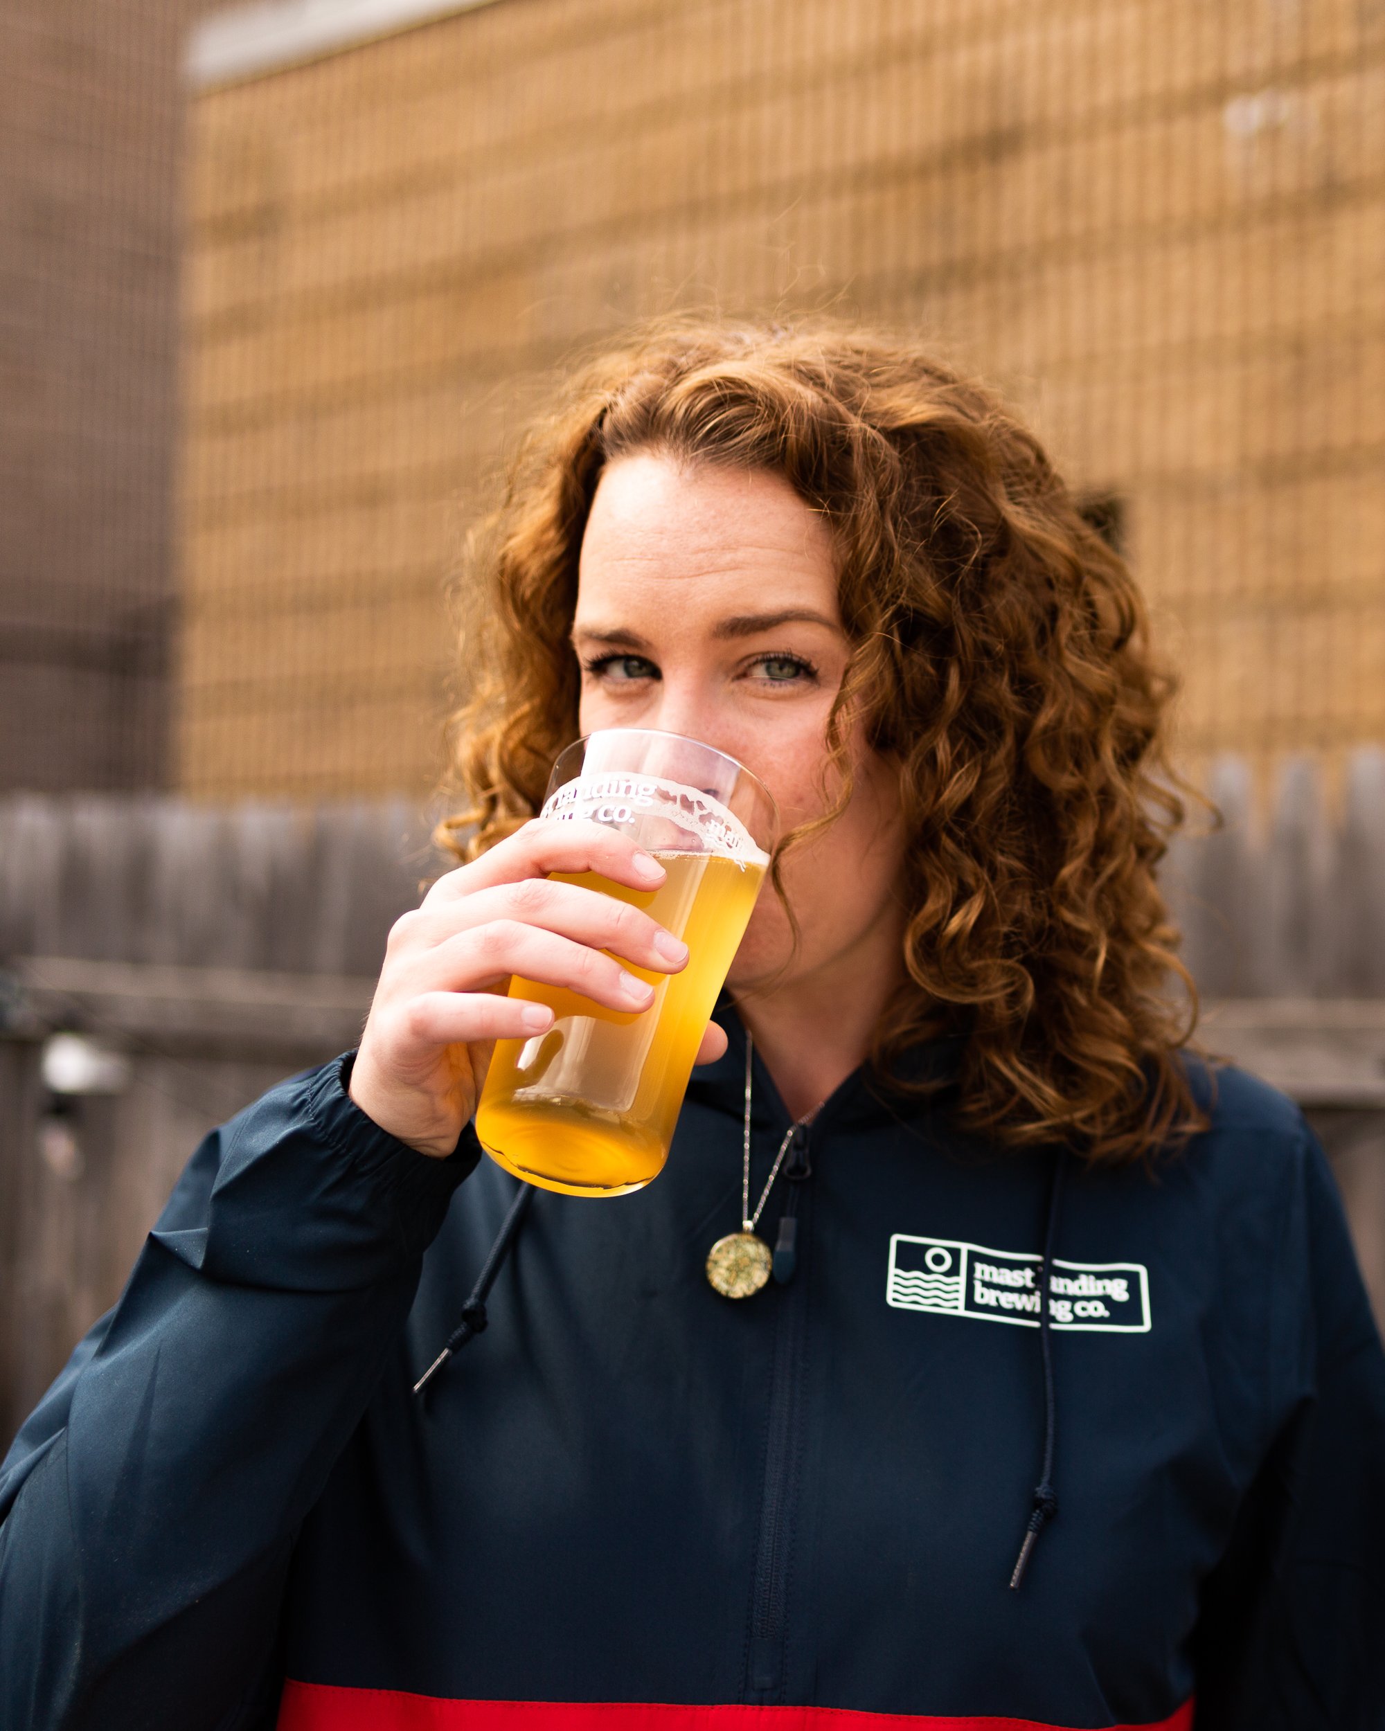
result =
[[[1165,867],[1203,1039],[1309,1110],[1385,1312],[1385,753],[1331,798],[1290,765],[1262,819],[1236,762],[1212,793],[1224,826]],[[436,869],[403,803],[0,803],[0,1430],[113,1302],[199,1137],[353,1044]],[[52,1096],[55,1030],[119,1054],[128,1085]]]

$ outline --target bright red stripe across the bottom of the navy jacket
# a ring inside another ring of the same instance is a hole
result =
[[[850,1707],[684,1707],[663,1702],[454,1702],[402,1689],[284,1684],[279,1731],[1073,1731],[1039,1719],[859,1714]],[[1193,1731],[1186,1702],[1158,1724],[1108,1731]]]

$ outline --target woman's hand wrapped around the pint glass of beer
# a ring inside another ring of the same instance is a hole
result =
[[[665,871],[637,841],[587,820],[525,824],[469,866],[440,878],[422,907],[395,921],[351,1070],[351,1099],[398,1141],[445,1158],[476,1110],[495,1040],[552,1026],[545,1004],[504,997],[511,975],[568,987],[609,1009],[639,1011],[654,988],[611,956],[677,973],[687,945],[658,921],[552,871],[596,871],[656,890]],[[725,1035],[703,1033],[698,1063]]]

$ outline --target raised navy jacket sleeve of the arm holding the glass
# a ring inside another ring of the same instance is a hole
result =
[[[114,1310],[0,1468],[0,1726],[272,1722],[303,1516],[480,1155],[296,1077],[192,1158]]]

